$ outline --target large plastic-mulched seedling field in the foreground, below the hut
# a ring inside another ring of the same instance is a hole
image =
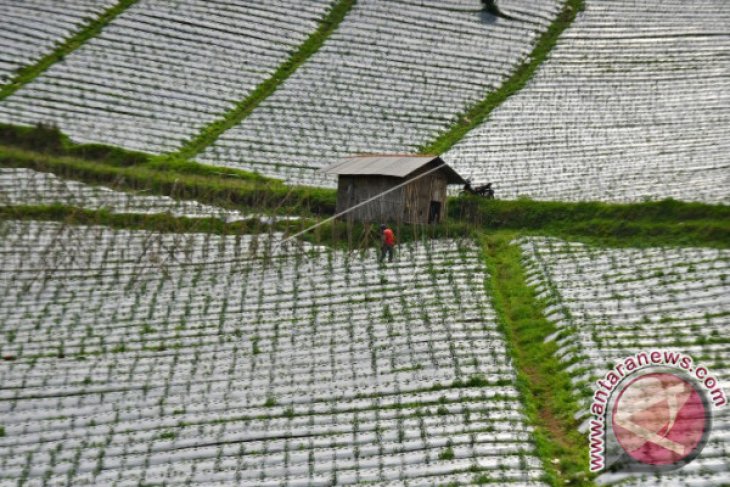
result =
[[[0,224],[0,482],[541,484],[470,242]]]

